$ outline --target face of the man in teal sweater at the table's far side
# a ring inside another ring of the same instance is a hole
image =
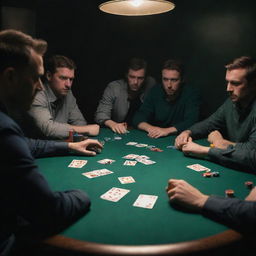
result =
[[[175,98],[181,85],[180,73],[177,70],[163,69],[162,83],[169,98]]]

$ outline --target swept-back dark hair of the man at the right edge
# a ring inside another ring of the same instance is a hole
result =
[[[249,56],[242,56],[239,58],[234,59],[231,63],[227,64],[227,70],[234,70],[234,69],[246,69],[246,80],[248,84],[252,81],[256,82],[256,59],[249,57]]]

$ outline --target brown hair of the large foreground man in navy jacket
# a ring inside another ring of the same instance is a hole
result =
[[[0,32],[0,72],[7,67],[24,67],[31,61],[31,50],[43,56],[47,42],[34,39],[21,31],[8,29]]]

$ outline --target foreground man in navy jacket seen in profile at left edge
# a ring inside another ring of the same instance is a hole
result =
[[[75,150],[95,155],[90,146],[79,143],[27,140],[10,118],[15,109],[27,111],[37,90],[42,89],[42,55],[47,43],[22,32],[0,32],[0,255],[9,255],[24,242],[37,241],[58,233],[90,207],[88,196],[80,190],[53,192],[34,161],[34,156],[65,154]],[[29,143],[29,144],[28,144]]]

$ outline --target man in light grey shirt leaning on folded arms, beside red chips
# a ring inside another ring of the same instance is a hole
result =
[[[49,59],[47,83],[44,84],[44,90],[37,93],[29,111],[36,128],[24,129],[27,136],[66,139],[70,130],[91,136],[98,135],[99,126],[87,124],[72,94],[74,73],[75,64],[67,57],[55,55]],[[36,129],[41,133],[30,135]]]

